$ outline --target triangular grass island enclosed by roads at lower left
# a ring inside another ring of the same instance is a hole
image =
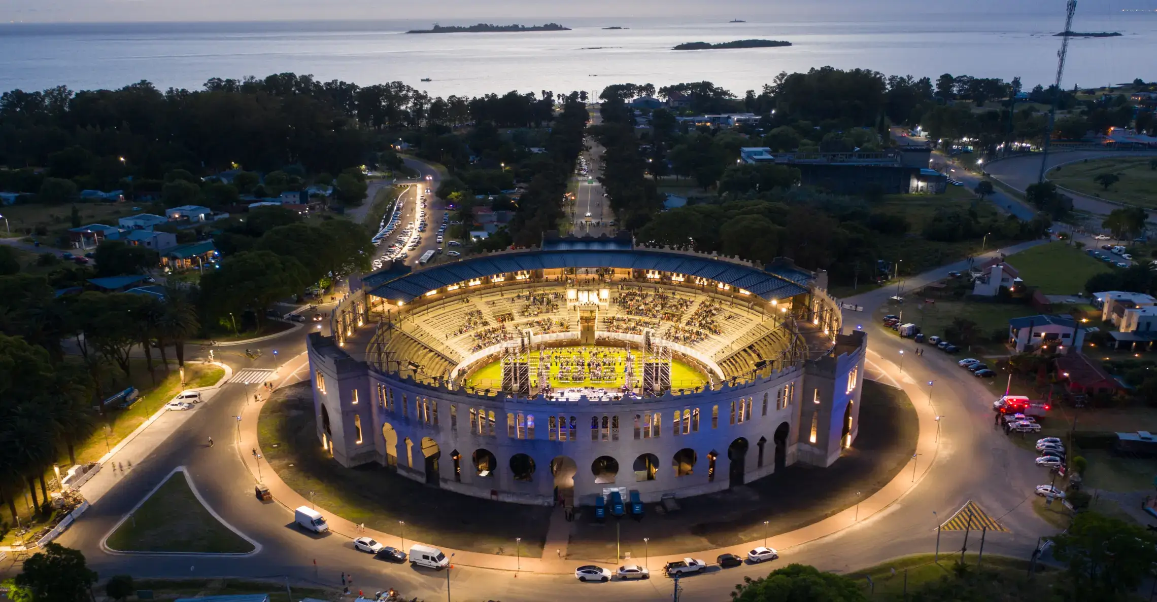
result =
[[[137,552],[245,553],[253,544],[216,520],[174,473],[135,512],[109,535],[109,548]]]

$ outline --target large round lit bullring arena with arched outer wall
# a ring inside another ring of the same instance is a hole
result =
[[[389,266],[309,336],[317,437],[342,466],[522,504],[827,467],[857,434],[865,337],[825,288],[629,236]]]

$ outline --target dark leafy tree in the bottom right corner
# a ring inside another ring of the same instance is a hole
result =
[[[1053,555],[1068,563],[1074,600],[1120,600],[1151,574],[1157,537],[1140,525],[1082,512],[1066,533],[1048,537]]]

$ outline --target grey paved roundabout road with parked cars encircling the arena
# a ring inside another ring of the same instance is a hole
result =
[[[1027,243],[1031,245],[1036,243]],[[1005,250],[1011,251],[1011,250]],[[909,278],[907,288],[937,280],[963,263],[944,266],[928,274]],[[772,538],[780,548],[781,559],[757,566],[721,570],[717,566],[706,574],[680,580],[684,600],[718,600],[743,577],[761,577],[784,563],[812,564],[821,570],[846,572],[884,562],[897,556],[930,552],[936,545],[936,526],[946,520],[967,500],[979,504],[985,512],[998,520],[1008,533],[988,533],[985,550],[1027,557],[1040,535],[1052,529],[1032,511],[1032,488],[1047,478],[1044,469],[1032,464],[1032,454],[1016,447],[992,421],[989,403],[1000,394],[1000,385],[981,381],[960,370],[951,356],[931,351],[923,356],[908,354],[900,372],[899,351],[912,350],[914,343],[900,340],[883,330],[879,324],[880,306],[894,292],[891,288],[877,289],[846,299],[863,306],[863,312],[846,311],[849,328],[860,325],[869,332],[870,378],[902,387],[916,406],[921,421],[921,453],[915,467],[901,470],[890,488],[899,488],[890,497],[882,490],[865,499],[853,520],[853,508],[826,519],[825,526],[805,527],[798,532]],[[307,377],[302,333],[288,333],[264,341],[264,348],[279,349],[283,365],[278,372],[279,384],[292,384]],[[190,349],[190,355],[194,356]],[[243,356],[218,354],[239,371],[242,369],[273,369],[272,354],[253,362]],[[927,382],[935,384],[929,387]],[[312,581],[339,585],[339,573],[353,573],[358,589],[373,592],[395,587],[406,596],[441,600],[447,587],[454,597],[474,600],[493,599],[507,602],[543,600],[550,592],[553,600],[587,600],[590,588],[599,588],[598,596],[614,595],[622,600],[655,600],[670,595],[672,581],[659,578],[657,568],[663,559],[651,557],[648,564],[656,578],[636,582],[580,584],[575,581],[574,566],[567,563],[524,559],[522,571],[514,571],[510,558],[500,560],[511,570],[484,568],[456,560],[447,572],[392,565],[353,550],[351,538],[338,533],[326,537],[311,537],[293,528],[293,515],[279,504],[261,504],[253,497],[252,461],[249,449],[238,449],[231,443],[237,431],[235,416],[243,414],[252,386],[229,382],[167,439],[152,447],[143,460],[134,462],[120,482],[97,499],[91,508],[59,540],[60,543],[81,549],[93,568],[102,575],[130,573],[134,577],[167,578],[281,578],[293,581]],[[929,402],[931,388],[931,404]],[[935,432],[933,416],[941,415],[938,443],[930,443]],[[213,437],[219,445],[205,445]],[[127,447],[126,447],[127,449]],[[239,453],[242,452],[242,453]],[[116,458],[113,458],[116,460]],[[246,466],[245,462],[249,462]],[[244,557],[219,556],[113,556],[104,551],[101,541],[147,491],[160,483],[175,467],[184,466],[205,500],[229,523],[259,542],[260,551]],[[905,483],[905,481],[911,481]],[[914,484],[913,484],[914,483]],[[516,511],[511,507],[511,511]],[[944,533],[941,550],[959,551],[961,533]],[[384,540],[385,541],[385,540]],[[975,549],[979,540],[970,540]],[[395,542],[386,541],[389,544]],[[762,542],[759,542],[762,543]],[[738,551],[734,548],[729,551]],[[695,552],[695,557],[714,559],[714,551]],[[315,564],[316,563],[316,564]],[[543,571],[543,572],[538,572]]]

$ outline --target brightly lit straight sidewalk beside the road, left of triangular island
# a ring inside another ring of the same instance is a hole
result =
[[[191,362],[189,362],[191,363]],[[153,449],[155,449],[161,443],[169,438],[177,429],[180,429],[186,421],[191,419],[201,407],[206,403],[212,403],[213,397],[220,391],[226,382],[233,378],[233,369],[227,364],[220,362],[213,362],[213,364],[224,369],[224,376],[216,385],[211,387],[192,388],[187,391],[199,391],[201,392],[202,400],[198,403],[197,409],[189,411],[169,411],[161,408],[147,421],[145,421],[135,431],[128,433],[127,437],[120,440],[112,449],[104,454],[97,463],[101,464],[97,468],[95,475],[88,480],[84,484],[80,486],[81,495],[89,504],[95,504],[105,493],[108,493],[117,482],[123,478],[130,470],[141,464],[141,462],[147,461],[148,456],[152,455]]]

